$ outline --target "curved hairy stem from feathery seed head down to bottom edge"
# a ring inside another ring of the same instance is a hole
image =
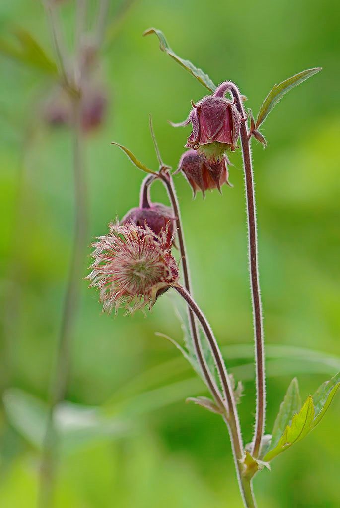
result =
[[[248,478],[245,478],[244,475],[242,474],[242,460],[244,457],[244,452],[234,393],[230,385],[228,372],[226,371],[216,338],[205,315],[203,314],[199,306],[195,303],[195,301],[192,299],[192,297],[189,295],[189,293],[180,285],[175,286],[174,289],[182,296],[182,298],[186,301],[187,305],[190,307],[191,311],[195,314],[197,320],[199,320],[202,329],[207,337],[211,353],[214,357],[216,368],[221,378],[224,395],[228,402],[228,415],[224,415],[223,419],[226,425],[228,426],[230,434],[240,492],[246,508],[255,508],[256,502],[252,492],[251,481]]]

